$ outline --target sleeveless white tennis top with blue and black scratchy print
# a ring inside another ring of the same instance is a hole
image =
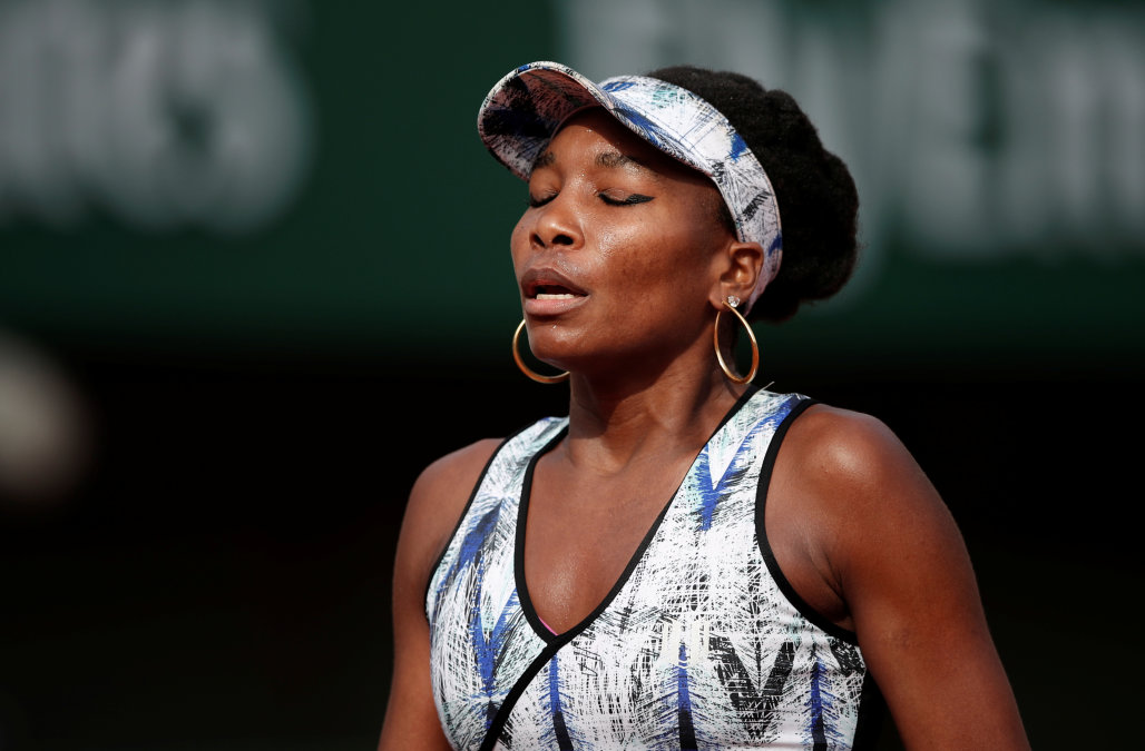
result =
[[[566,421],[510,439],[427,592],[434,701],[453,748],[851,749],[862,655],[784,596],[756,532],[772,438],[803,402],[767,391],[742,402],[609,599],[562,634],[530,610],[518,545],[530,468]]]

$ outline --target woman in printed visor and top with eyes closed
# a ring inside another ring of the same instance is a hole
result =
[[[741,313],[784,320],[855,259],[854,184],[791,97],[535,63],[479,129],[529,185],[522,326],[569,415],[416,482],[380,748],[846,749],[884,700],[908,748],[1028,748],[908,452],[732,363]]]

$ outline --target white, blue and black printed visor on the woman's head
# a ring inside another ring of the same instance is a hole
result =
[[[764,248],[764,269],[747,302],[750,310],[779,273],[783,256],[779,205],[767,173],[743,137],[703,98],[642,75],[617,75],[598,86],[567,65],[543,61],[522,65],[498,81],[481,105],[477,131],[498,161],[528,179],[561,123],[595,105],[716,183],[739,239]]]

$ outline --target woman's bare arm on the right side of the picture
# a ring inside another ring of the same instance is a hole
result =
[[[829,576],[907,748],[1028,749],[962,535],[922,469],[866,415],[819,410],[805,438]]]

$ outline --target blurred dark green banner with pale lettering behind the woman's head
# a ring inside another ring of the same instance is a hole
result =
[[[513,66],[785,88],[860,186],[848,367],[1145,362],[1142,3],[0,2],[0,327],[49,345],[500,358]]]

